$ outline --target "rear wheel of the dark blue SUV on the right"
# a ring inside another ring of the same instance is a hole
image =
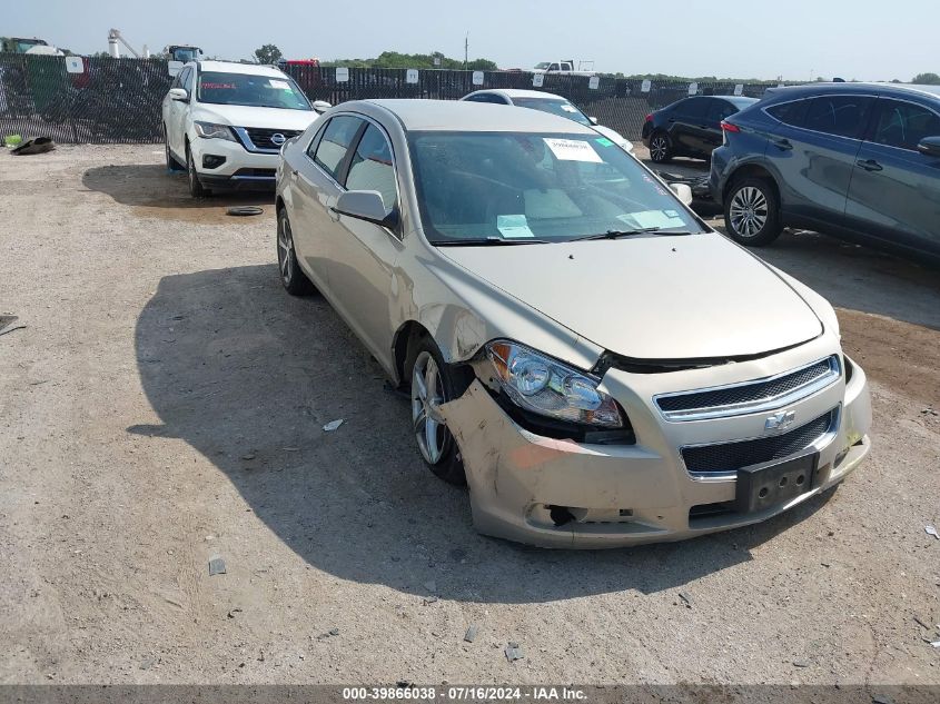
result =
[[[773,185],[762,178],[732,182],[724,198],[728,236],[746,247],[764,247],[780,237],[780,199]]]

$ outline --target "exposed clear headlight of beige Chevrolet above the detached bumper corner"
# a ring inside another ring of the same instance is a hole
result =
[[[508,340],[486,345],[496,378],[525,410],[602,428],[621,428],[616,401],[597,390],[597,379]]]

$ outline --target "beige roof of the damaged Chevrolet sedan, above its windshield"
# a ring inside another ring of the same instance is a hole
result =
[[[406,131],[456,132],[556,132],[596,135],[567,118],[485,102],[462,100],[356,100],[338,106],[344,110],[379,109],[394,115]]]

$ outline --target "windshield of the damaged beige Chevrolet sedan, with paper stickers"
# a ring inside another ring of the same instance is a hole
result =
[[[413,132],[408,140],[435,245],[703,231],[661,181],[597,135]]]

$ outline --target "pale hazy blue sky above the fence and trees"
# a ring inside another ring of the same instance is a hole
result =
[[[869,6],[869,7],[867,7]],[[152,51],[194,43],[249,58],[372,58],[442,51],[501,68],[593,60],[603,72],[810,80],[910,80],[940,73],[938,0],[10,0],[0,34],[105,51],[110,28]]]

